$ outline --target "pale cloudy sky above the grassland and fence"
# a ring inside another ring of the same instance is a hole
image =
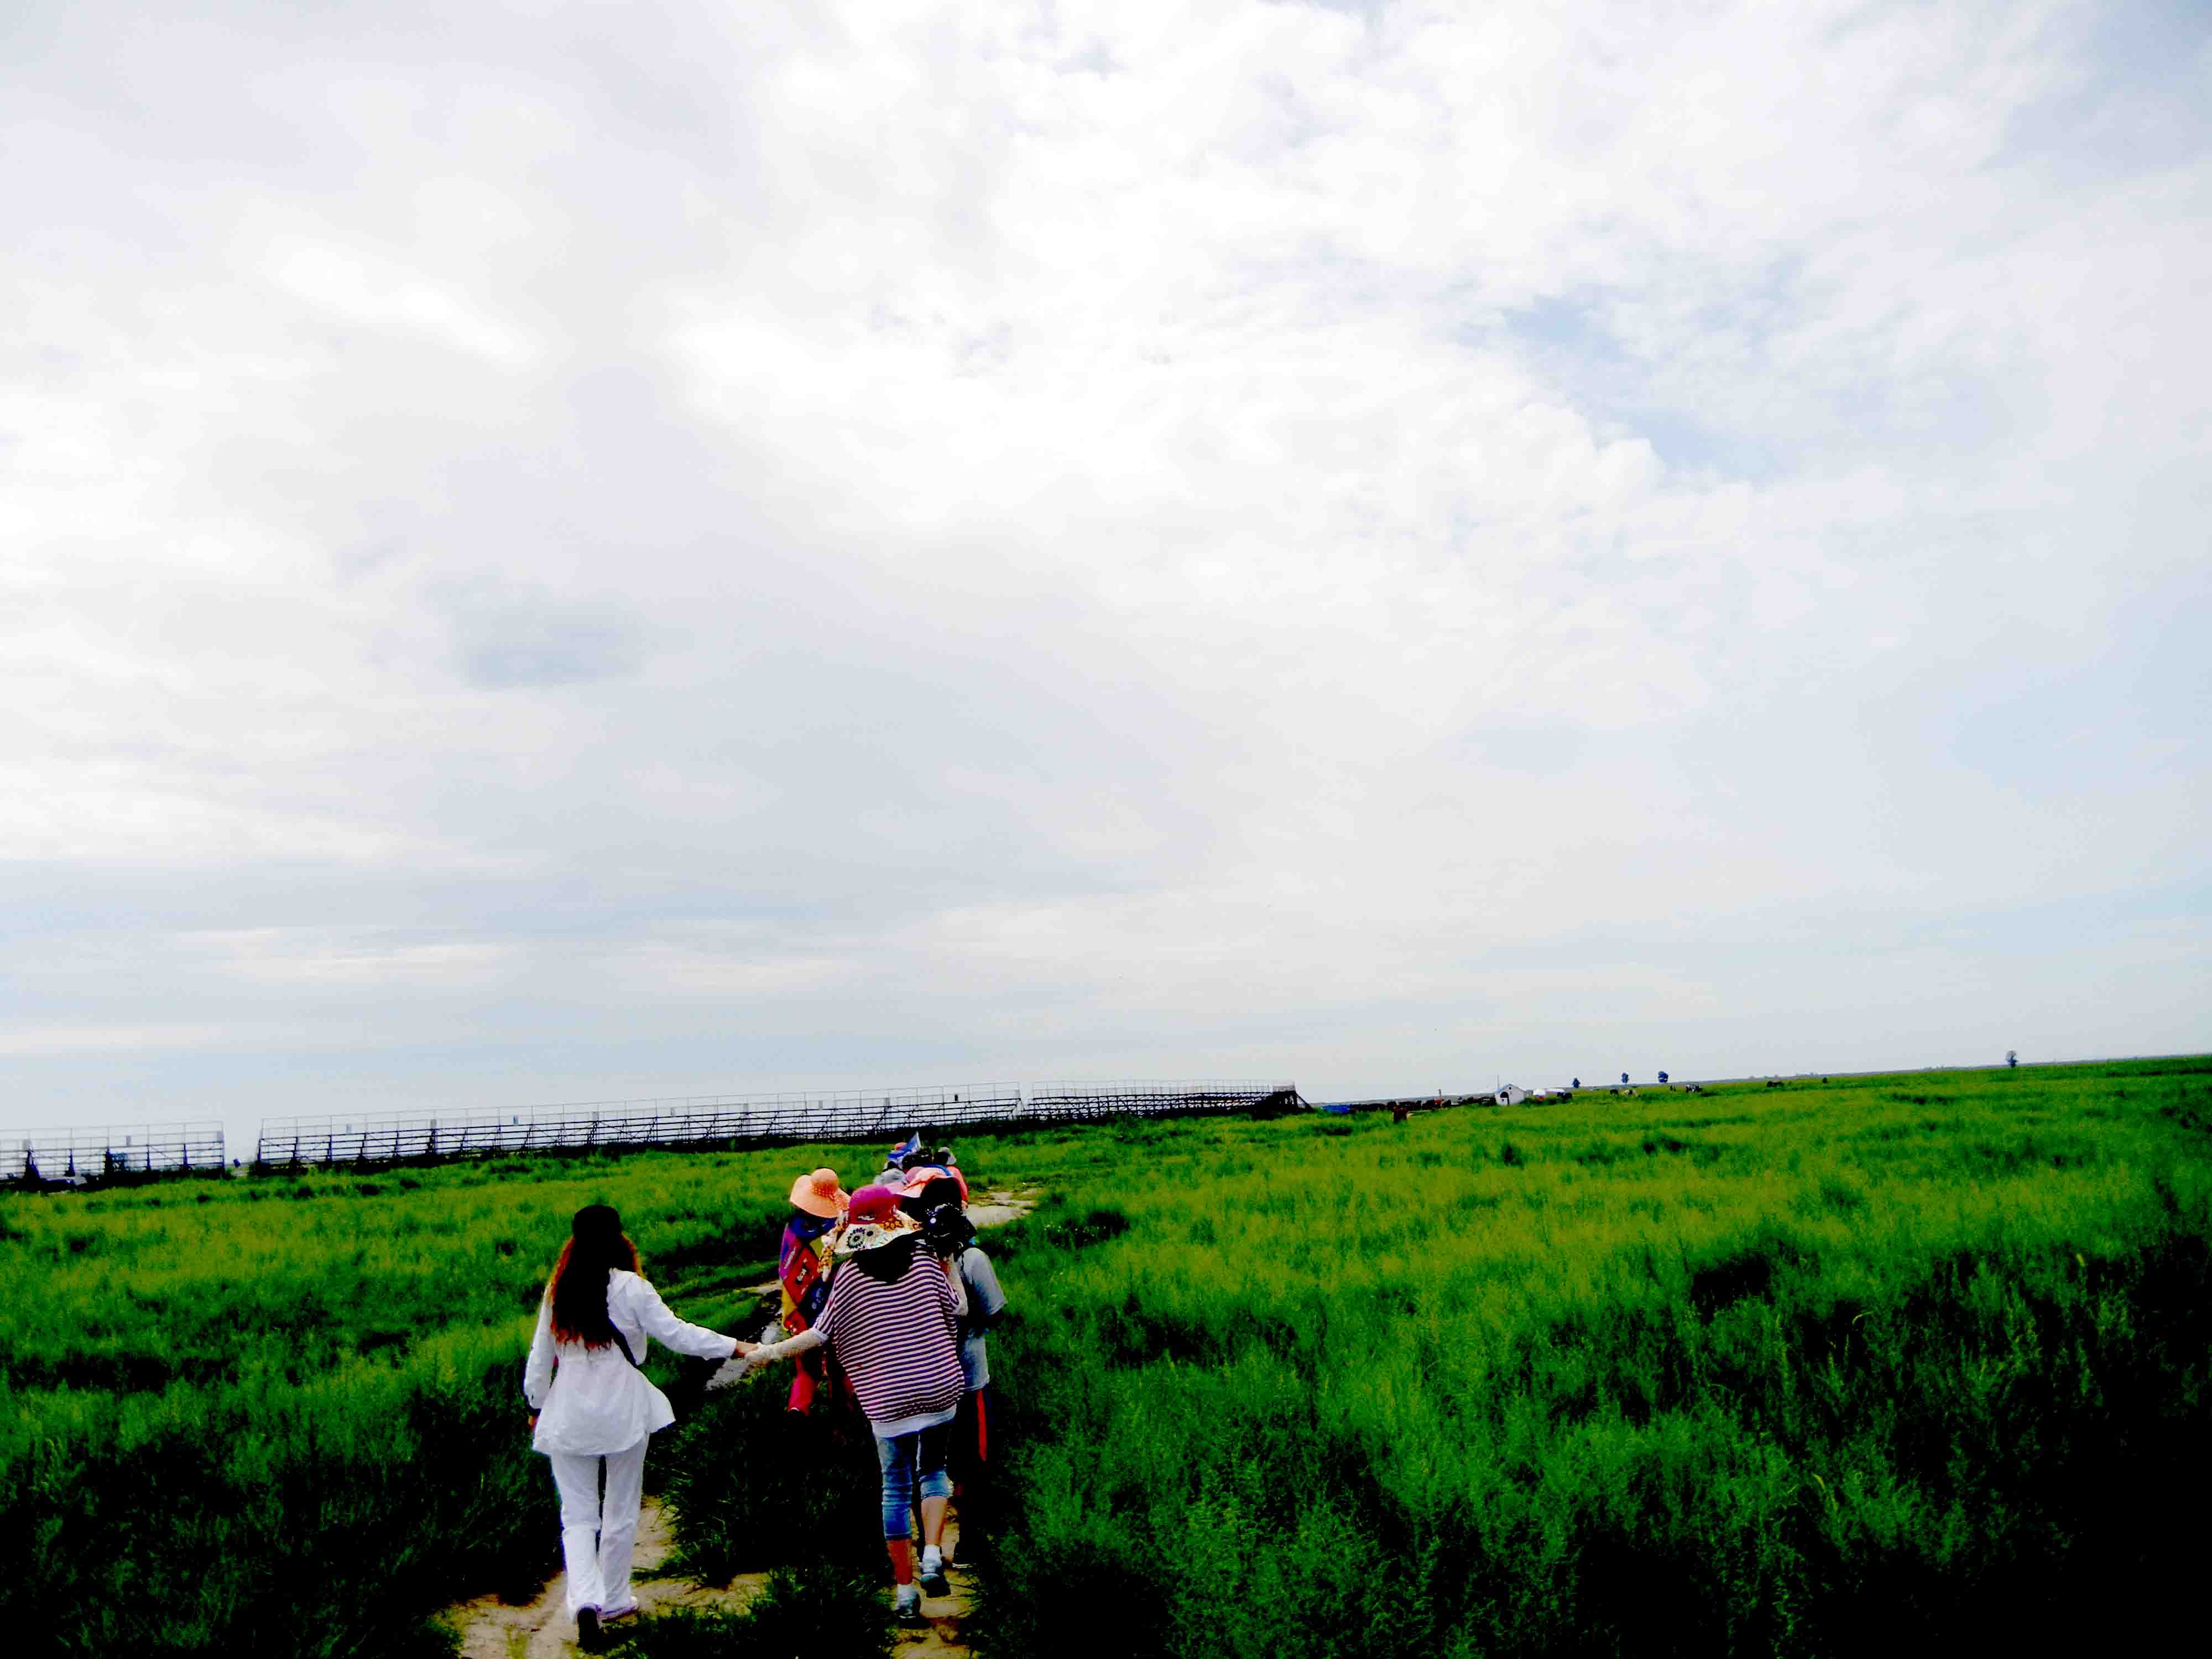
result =
[[[2212,1046],[2199,4],[18,0],[0,206],[0,1126]]]

